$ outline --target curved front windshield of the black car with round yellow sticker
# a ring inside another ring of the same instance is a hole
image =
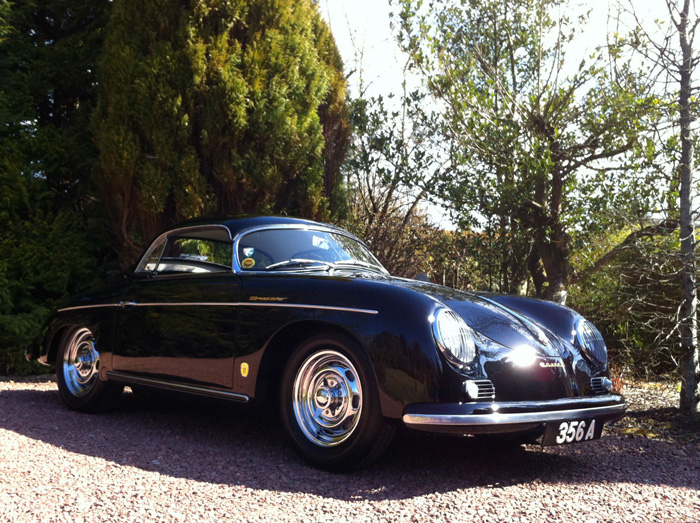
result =
[[[385,272],[362,243],[344,234],[307,229],[266,229],[238,241],[244,271],[361,267]]]

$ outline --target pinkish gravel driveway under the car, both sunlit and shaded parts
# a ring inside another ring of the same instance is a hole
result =
[[[628,388],[635,409],[675,401]],[[0,379],[0,521],[700,521],[697,439],[624,420],[545,449],[402,432],[371,469],[331,474],[303,463],[273,416],[172,403],[128,393],[115,412],[78,414],[52,379]]]

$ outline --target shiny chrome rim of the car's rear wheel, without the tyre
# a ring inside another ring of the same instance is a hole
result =
[[[73,396],[84,396],[97,382],[100,354],[89,329],[76,331],[63,352],[63,376]]]

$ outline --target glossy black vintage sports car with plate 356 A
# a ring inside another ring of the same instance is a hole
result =
[[[390,276],[352,234],[292,218],[192,220],[74,298],[29,359],[69,409],[124,388],[251,402],[317,466],[376,459],[403,424],[558,445],[600,437],[611,393],[598,330],[557,304]]]

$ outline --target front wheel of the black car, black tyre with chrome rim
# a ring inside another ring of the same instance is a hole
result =
[[[296,449],[327,470],[368,466],[395,429],[382,417],[369,358],[334,333],[314,336],[292,354],[282,377],[281,414]]]

